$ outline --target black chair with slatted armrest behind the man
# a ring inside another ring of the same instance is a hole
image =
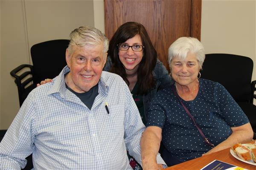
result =
[[[37,83],[47,78],[58,76],[66,63],[65,54],[69,40],[50,40],[31,47],[33,65],[23,64],[13,69],[20,106]]]

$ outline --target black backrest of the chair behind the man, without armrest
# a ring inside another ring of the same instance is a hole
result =
[[[58,76],[67,65],[65,54],[69,42],[70,40],[50,40],[31,47],[34,84]]]

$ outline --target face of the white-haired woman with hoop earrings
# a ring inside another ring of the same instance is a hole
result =
[[[194,85],[198,81],[200,66],[195,54],[188,53],[185,60],[174,57],[171,62],[172,78],[179,85]]]

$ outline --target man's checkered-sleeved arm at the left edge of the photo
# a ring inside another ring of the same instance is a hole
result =
[[[33,152],[35,136],[31,133],[35,109],[30,93],[0,143],[0,170],[20,170]]]

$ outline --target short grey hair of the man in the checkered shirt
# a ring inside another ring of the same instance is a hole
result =
[[[74,29],[70,33],[70,43],[68,45],[68,55],[73,53],[73,46],[78,45],[83,47],[85,45],[96,46],[103,43],[103,54],[108,51],[108,38],[99,29],[90,26],[81,26]],[[103,55],[105,57],[105,55]]]

